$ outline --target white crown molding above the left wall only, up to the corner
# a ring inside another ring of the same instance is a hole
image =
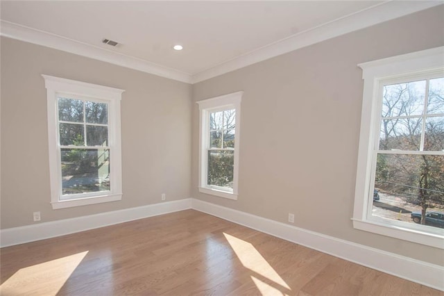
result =
[[[95,47],[94,45],[79,42],[77,40],[71,40],[60,35],[7,22],[3,19],[0,21],[0,26],[0,35],[8,38],[30,42],[53,49],[59,49],[61,51],[67,51],[71,54],[78,54],[80,56],[86,56],[87,58],[94,58],[95,60],[101,60],[106,63],[136,69],[176,81],[191,83],[190,74],[180,72],[176,69],[163,67],[140,58],[126,56],[125,54],[102,49],[101,47]]]

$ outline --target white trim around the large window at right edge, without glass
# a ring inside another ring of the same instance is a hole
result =
[[[373,201],[373,188],[370,174],[372,171],[372,151],[375,137],[379,137],[381,106],[379,88],[382,81],[420,74],[444,74],[444,47],[436,47],[411,54],[374,60],[358,65],[363,71],[364,93],[361,109],[361,129],[357,160],[357,179],[355,187],[355,206],[353,227],[364,231],[400,238],[422,245],[444,249],[444,236],[441,229],[423,231],[422,225],[388,219],[368,219],[368,209]]]

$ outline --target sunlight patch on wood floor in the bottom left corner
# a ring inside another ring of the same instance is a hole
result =
[[[28,266],[0,286],[0,295],[56,295],[88,251]]]

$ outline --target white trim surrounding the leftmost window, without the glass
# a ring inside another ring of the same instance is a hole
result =
[[[62,79],[59,77],[42,75],[46,87],[46,102],[48,112],[48,142],[49,142],[49,179],[51,183],[51,206],[53,209],[69,208],[73,206],[85,206],[87,204],[99,204],[102,202],[114,202],[122,197],[121,176],[121,120],[120,101],[121,94],[125,90],[109,88],[103,85]],[[96,192],[96,195],[87,194],[81,199],[60,200],[62,195],[60,145],[58,141],[57,122],[57,94],[72,94],[77,97],[89,97],[107,101],[108,126],[110,133],[109,147],[112,150],[112,165],[110,166],[109,192]]]

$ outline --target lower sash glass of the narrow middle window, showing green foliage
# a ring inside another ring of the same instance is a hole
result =
[[[233,188],[234,151],[208,151],[207,184]]]

